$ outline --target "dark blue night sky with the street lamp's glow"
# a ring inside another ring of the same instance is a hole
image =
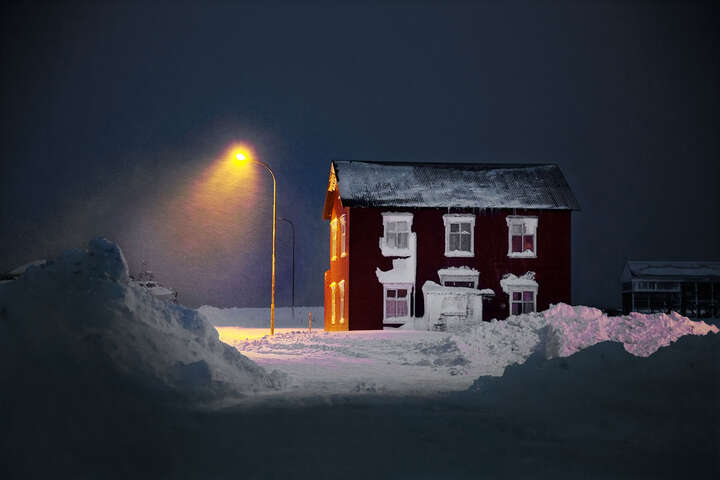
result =
[[[688,2],[5,5],[0,271],[104,235],[189,305],[268,303],[269,177],[212,214],[187,204],[244,141],[297,225],[297,304],[322,302],[332,158],[558,163],[582,206],[573,301],[618,304],[628,258],[720,258],[717,14]]]

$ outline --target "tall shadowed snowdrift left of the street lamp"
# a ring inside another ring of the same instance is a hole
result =
[[[68,378],[74,372],[58,372],[59,362],[102,365],[118,379],[202,400],[286,382],[220,342],[196,311],[133,286],[120,248],[104,238],[0,285],[0,312],[0,355],[14,378],[30,365]]]

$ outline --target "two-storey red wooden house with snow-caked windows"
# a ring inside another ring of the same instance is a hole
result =
[[[325,329],[569,303],[577,209],[557,165],[333,161]]]

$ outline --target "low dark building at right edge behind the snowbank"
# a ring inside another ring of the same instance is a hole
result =
[[[628,261],[620,277],[623,313],[678,312],[720,318],[720,262]]]

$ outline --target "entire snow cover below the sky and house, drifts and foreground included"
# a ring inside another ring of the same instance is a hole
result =
[[[717,478],[703,323],[311,333],[279,309],[269,337],[263,315],[158,300],[104,239],[3,282],[0,478]]]

